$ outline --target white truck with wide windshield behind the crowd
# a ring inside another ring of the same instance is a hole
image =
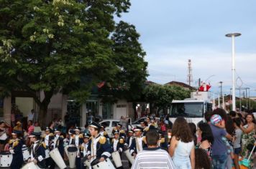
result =
[[[177,117],[184,117],[187,122],[204,121],[204,113],[212,110],[209,92],[191,92],[191,98],[185,100],[173,100],[169,110],[170,122]]]

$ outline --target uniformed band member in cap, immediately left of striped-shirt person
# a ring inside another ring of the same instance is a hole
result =
[[[132,156],[134,156],[134,158],[136,157],[137,153],[140,153],[145,147],[145,137],[142,137],[142,130],[142,127],[138,126],[134,130],[135,137],[132,139],[132,145],[129,148],[129,152]]]

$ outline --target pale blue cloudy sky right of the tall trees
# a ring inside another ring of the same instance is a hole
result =
[[[160,84],[186,82],[192,61],[193,86],[208,79],[212,91],[232,87],[232,42],[235,39],[237,86],[250,87],[256,95],[256,1],[237,0],[131,0],[122,20],[134,24],[147,52],[149,80]],[[214,75],[214,76],[212,76]],[[212,77],[211,77],[212,76]],[[187,82],[186,82],[187,83]]]

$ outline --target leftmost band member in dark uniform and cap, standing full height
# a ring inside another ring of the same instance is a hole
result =
[[[11,169],[22,168],[23,154],[22,154],[22,140],[19,140],[18,136],[22,135],[22,131],[14,130],[12,132],[13,140],[10,143],[10,153],[12,153]]]

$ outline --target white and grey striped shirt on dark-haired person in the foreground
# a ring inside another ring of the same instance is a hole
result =
[[[175,169],[175,165],[165,150],[145,148],[137,154],[131,169]]]

